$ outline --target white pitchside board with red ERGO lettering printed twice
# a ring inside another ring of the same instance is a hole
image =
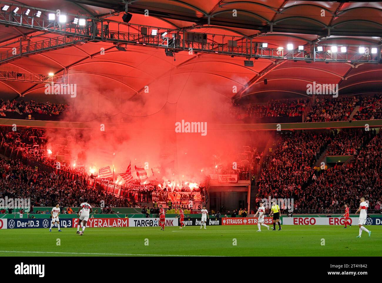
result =
[[[365,225],[381,225],[382,218],[367,218]],[[352,225],[358,225],[358,217],[350,217]],[[379,224],[376,224],[376,223]],[[345,225],[344,217],[283,217],[283,225]]]

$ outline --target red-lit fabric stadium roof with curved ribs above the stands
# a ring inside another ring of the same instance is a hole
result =
[[[18,3],[21,10],[23,5],[49,11],[60,9],[61,13],[102,18],[112,23],[123,23],[121,17],[127,8],[133,15],[129,24],[206,33],[209,41],[216,45],[226,43],[227,38],[251,38],[253,44],[268,43],[269,48],[283,47],[284,50],[288,44],[293,48],[315,44],[315,47],[344,46],[353,51],[364,46],[377,47],[380,53],[382,2],[130,0],[127,7],[124,2],[21,0]],[[18,47],[23,38],[30,40],[32,45],[58,36],[49,30],[1,27],[0,52]],[[121,24],[118,28],[127,32],[134,26]],[[172,53],[173,57],[161,48],[146,45],[122,45],[127,52],[119,51],[115,46],[112,42],[95,40],[43,50],[6,62],[0,70],[44,75],[52,72],[55,76],[69,74],[70,82],[92,90],[102,84],[117,83],[122,92],[131,97],[144,91],[145,86],[168,88],[169,82],[170,85],[186,85],[188,80],[193,80],[199,85],[214,85],[214,91],[227,98],[247,101],[304,97],[306,84],[314,81],[339,84],[340,94],[376,92],[382,82],[380,64],[351,60],[346,63],[335,60],[311,63],[257,58],[252,67],[244,66],[246,58],[240,56],[180,51]],[[101,48],[105,54],[100,53]],[[81,82],[84,82],[82,86]],[[233,86],[237,87],[237,93],[232,92]],[[0,92],[9,98],[19,95],[44,98],[44,83],[0,80]]]

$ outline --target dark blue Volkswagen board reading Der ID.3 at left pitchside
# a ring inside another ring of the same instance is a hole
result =
[[[4,220],[4,219],[2,219]],[[50,228],[50,223],[52,222],[51,218],[34,218],[34,219],[8,219],[7,228]],[[60,228],[72,227],[73,219],[60,219]],[[57,224],[54,224],[54,227],[57,228]]]

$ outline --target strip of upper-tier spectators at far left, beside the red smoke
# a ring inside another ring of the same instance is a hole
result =
[[[24,100],[3,100],[0,99],[0,113],[3,115],[7,112],[18,112],[21,114],[46,114],[46,115],[59,115],[62,113],[68,114],[69,105],[61,103],[51,103],[47,101],[36,102],[34,100],[24,101]]]

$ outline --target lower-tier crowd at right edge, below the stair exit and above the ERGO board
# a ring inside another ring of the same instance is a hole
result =
[[[369,201],[370,209],[380,211],[382,201],[382,135],[373,138],[346,166],[335,165],[324,171],[304,191],[298,191],[298,209],[331,213],[348,204],[352,212],[359,207],[359,197]]]

